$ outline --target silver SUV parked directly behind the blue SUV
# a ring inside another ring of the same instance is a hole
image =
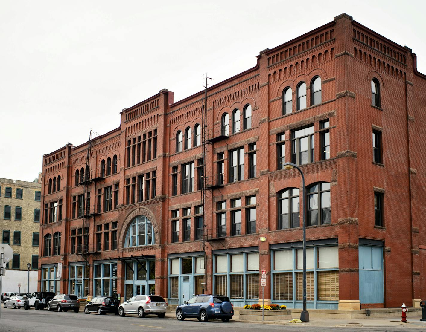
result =
[[[167,302],[158,295],[136,295],[118,307],[118,315],[138,314],[140,318],[145,315],[157,315],[164,318],[167,310]]]

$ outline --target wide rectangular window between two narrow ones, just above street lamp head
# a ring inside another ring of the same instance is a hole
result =
[[[314,126],[292,132],[292,162],[303,165],[314,162]]]

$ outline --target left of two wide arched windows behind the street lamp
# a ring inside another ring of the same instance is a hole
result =
[[[299,227],[300,199],[298,188],[278,193],[278,229]]]

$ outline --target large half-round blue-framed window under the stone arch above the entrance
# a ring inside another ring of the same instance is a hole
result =
[[[124,246],[128,248],[149,246],[151,244],[155,244],[152,223],[145,216],[136,217],[130,224],[129,230],[127,231]]]

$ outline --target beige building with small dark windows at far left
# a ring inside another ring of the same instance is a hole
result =
[[[0,177],[2,241],[13,249],[13,258],[6,265],[9,269],[28,271],[28,263],[31,269],[38,269],[41,183],[34,181]]]

